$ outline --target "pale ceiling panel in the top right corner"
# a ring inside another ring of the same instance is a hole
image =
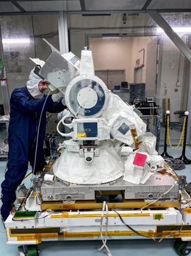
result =
[[[148,9],[190,9],[190,0],[152,0],[151,4],[148,5]]]

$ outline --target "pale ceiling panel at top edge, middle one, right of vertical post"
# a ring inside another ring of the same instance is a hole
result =
[[[85,0],[86,10],[141,10],[146,0]]]

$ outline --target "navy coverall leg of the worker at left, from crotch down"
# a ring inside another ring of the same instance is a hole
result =
[[[7,172],[5,179],[1,184],[1,216],[4,221],[10,215],[12,204],[14,204],[16,195],[15,191],[21,184],[28,169],[28,162],[9,161],[7,164]]]

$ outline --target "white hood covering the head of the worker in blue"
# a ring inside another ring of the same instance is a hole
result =
[[[42,80],[43,79],[37,76],[32,69],[29,75],[29,80],[26,82],[26,88],[35,99],[41,99],[44,95],[38,88],[38,83]]]

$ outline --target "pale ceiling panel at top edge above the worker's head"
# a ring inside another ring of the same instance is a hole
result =
[[[78,0],[71,1],[18,1],[27,12],[81,10]]]

